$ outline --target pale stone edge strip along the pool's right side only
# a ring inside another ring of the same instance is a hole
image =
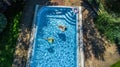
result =
[[[79,21],[78,21],[78,29],[79,29],[79,34],[78,34],[78,56],[79,56],[79,60],[78,60],[78,67],[85,67],[85,63],[84,63],[84,46],[83,46],[83,29],[82,29],[82,7],[78,7],[79,8]]]

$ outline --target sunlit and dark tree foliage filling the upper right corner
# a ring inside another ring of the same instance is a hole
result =
[[[96,27],[101,34],[106,36],[111,42],[116,42],[120,38],[120,2],[119,0],[86,0],[92,8],[98,9],[98,16],[94,19]],[[98,5],[96,7],[95,5]]]

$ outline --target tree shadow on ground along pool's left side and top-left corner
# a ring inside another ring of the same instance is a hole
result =
[[[26,67],[35,6],[58,5],[51,0],[26,0],[12,67]]]

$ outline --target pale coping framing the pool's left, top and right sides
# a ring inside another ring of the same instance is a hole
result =
[[[30,58],[31,55],[33,54],[32,52],[34,52],[34,38],[36,38],[36,33],[37,33],[37,26],[35,25],[36,23],[36,15],[38,12],[39,8],[42,8],[45,6],[40,6],[40,5],[36,5],[35,7],[35,12],[34,12],[34,18],[33,18],[33,24],[32,24],[32,32],[31,32],[31,39],[30,39],[30,45],[29,45],[29,49],[28,49],[28,58],[27,58],[27,63],[26,63],[26,67],[30,66]],[[77,67],[84,67],[84,51],[83,51],[83,33],[82,33],[82,10],[80,6],[46,6],[46,7],[68,7],[68,8],[73,8],[76,7],[79,9],[79,13],[78,13],[78,17],[76,18],[78,21],[78,23],[76,23],[76,44],[77,44]]]

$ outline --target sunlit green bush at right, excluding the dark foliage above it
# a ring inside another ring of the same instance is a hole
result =
[[[115,42],[116,38],[120,37],[120,17],[108,12],[102,2],[99,5],[95,24],[101,34],[104,34],[111,42]]]

